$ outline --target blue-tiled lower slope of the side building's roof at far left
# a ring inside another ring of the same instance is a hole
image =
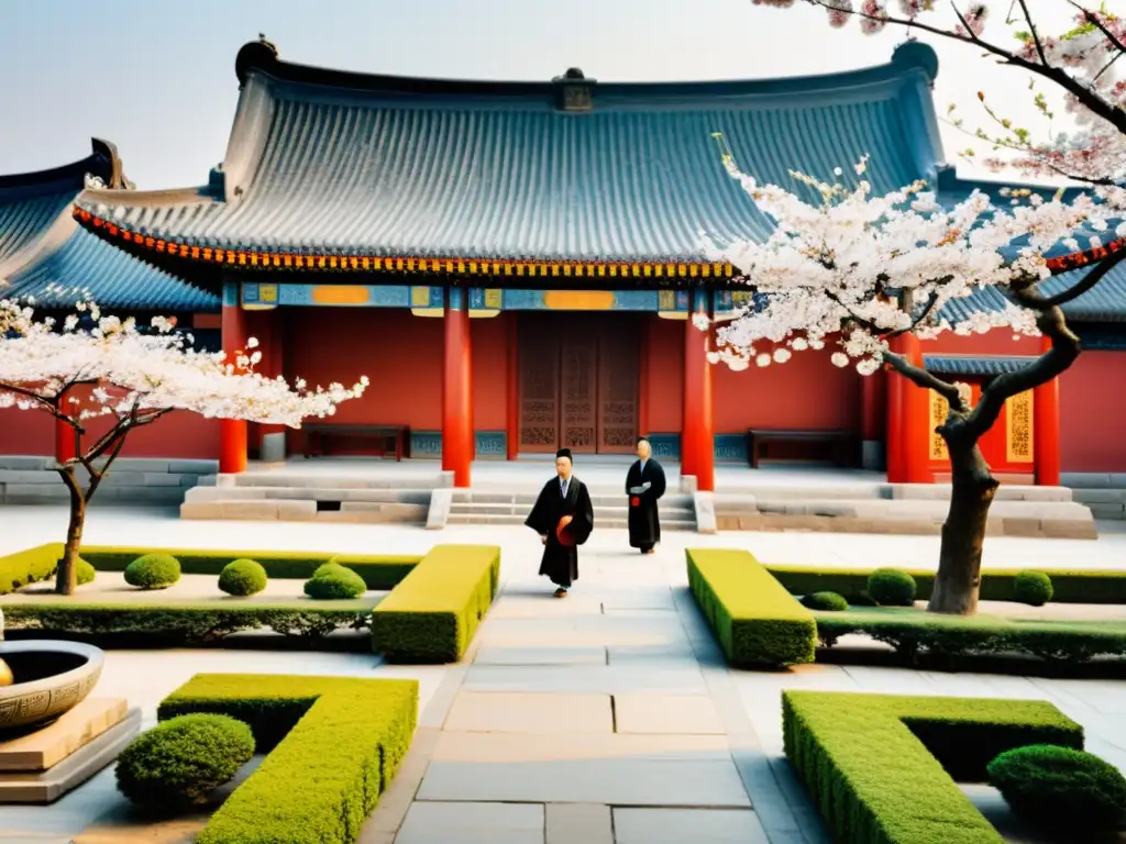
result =
[[[73,308],[79,299],[105,311],[217,312],[220,297],[126,254],[77,226],[50,254],[8,279],[0,295],[34,299],[45,308]]]

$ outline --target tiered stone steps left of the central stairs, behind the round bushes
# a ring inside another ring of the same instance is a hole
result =
[[[307,473],[220,475],[188,490],[181,519],[425,524],[432,482]]]

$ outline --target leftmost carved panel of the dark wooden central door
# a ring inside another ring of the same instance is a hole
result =
[[[521,314],[524,316],[526,315]],[[558,332],[549,320],[521,318],[517,350],[520,371],[520,451],[554,452],[560,441]]]

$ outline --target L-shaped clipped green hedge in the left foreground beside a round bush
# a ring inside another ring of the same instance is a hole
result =
[[[418,682],[197,674],[158,718],[190,712],[245,721],[269,751],[196,844],[351,844],[410,747]]]

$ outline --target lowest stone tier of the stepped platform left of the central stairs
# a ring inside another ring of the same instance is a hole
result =
[[[339,509],[318,510],[315,501],[240,500],[185,502],[180,518],[216,521],[368,522],[425,524],[428,504],[345,501]]]

